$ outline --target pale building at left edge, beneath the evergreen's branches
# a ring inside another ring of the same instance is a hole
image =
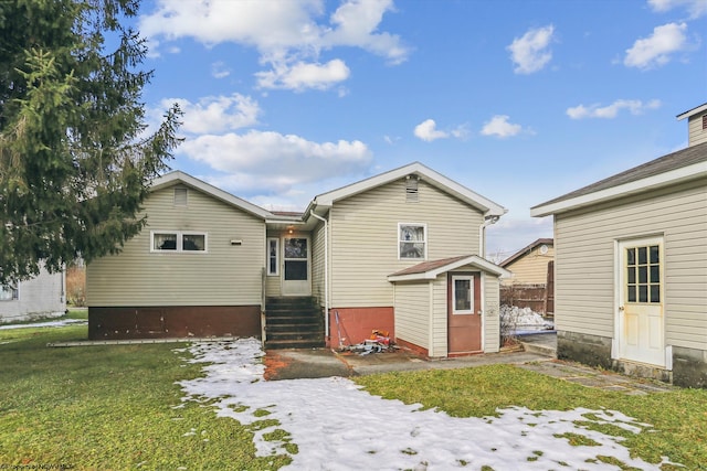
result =
[[[56,318],[66,312],[64,274],[42,269],[29,280],[0,285],[0,323]]]

